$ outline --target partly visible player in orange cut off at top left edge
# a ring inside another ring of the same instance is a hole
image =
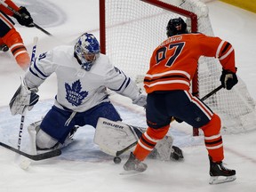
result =
[[[25,7],[18,7],[11,0],[3,2],[16,12],[19,12],[21,17],[6,8],[0,1],[0,51],[7,52],[10,49],[20,68],[26,70],[29,66],[30,58],[20,33],[14,28],[14,22],[9,16],[14,17],[20,25],[26,27],[34,27],[33,19]]]

